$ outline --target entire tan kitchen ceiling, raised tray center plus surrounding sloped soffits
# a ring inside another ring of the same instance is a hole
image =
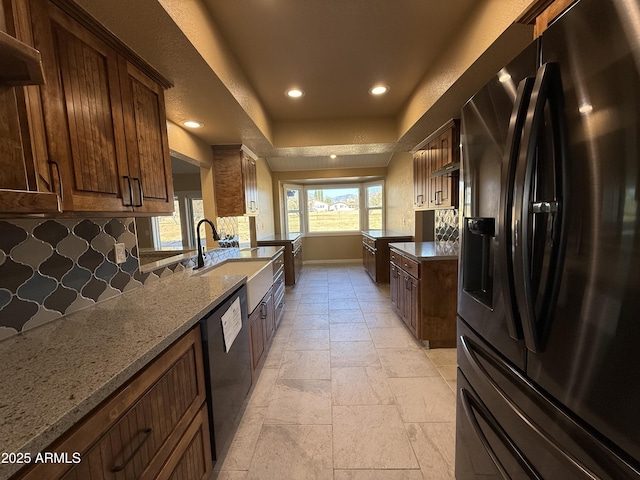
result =
[[[386,166],[531,39],[535,0],[76,0],[173,82],[176,124],[272,170]],[[384,97],[369,95],[374,83]],[[289,99],[299,87],[305,95]],[[338,155],[330,160],[331,153]]]

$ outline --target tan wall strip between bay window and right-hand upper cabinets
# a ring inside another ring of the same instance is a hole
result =
[[[413,156],[396,153],[387,167],[385,181],[387,230],[414,235]]]

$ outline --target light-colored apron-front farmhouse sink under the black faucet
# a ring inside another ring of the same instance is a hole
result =
[[[217,267],[205,270],[202,276],[245,275],[247,277],[247,304],[253,312],[273,283],[271,260],[226,261]]]

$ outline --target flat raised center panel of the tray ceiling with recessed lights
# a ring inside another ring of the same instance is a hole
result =
[[[395,117],[476,0],[204,0],[272,120]],[[381,97],[369,89],[390,87]],[[300,99],[285,98],[290,87]]]

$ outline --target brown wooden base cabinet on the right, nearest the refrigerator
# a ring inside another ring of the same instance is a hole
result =
[[[430,348],[456,346],[457,269],[457,260],[418,260],[391,248],[391,305]]]

